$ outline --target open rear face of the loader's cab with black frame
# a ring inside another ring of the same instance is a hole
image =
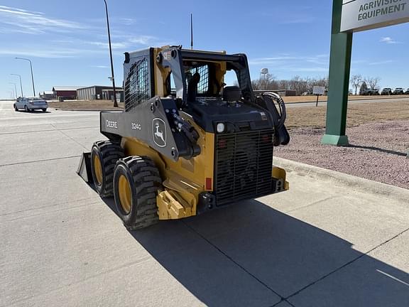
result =
[[[177,59],[168,60],[169,53]],[[158,66],[168,68],[165,95],[181,99],[184,107],[206,99],[222,99],[224,89],[231,86],[239,88],[246,102],[254,100],[245,55],[178,49],[163,50],[159,58]]]

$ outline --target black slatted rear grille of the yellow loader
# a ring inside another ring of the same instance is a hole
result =
[[[219,134],[215,148],[217,205],[271,192],[272,129]]]

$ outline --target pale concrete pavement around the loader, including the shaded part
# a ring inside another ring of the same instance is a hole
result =
[[[0,306],[409,306],[406,190],[293,170],[288,192],[128,232],[75,173],[100,139],[97,112],[0,102]]]

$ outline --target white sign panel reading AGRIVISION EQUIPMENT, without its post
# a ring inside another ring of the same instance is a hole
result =
[[[343,0],[341,32],[364,31],[409,21],[409,0]]]

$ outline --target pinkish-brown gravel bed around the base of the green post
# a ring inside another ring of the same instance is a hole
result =
[[[275,155],[409,189],[409,120],[350,127],[348,147],[321,145],[324,134],[325,129],[291,129],[290,144]]]

